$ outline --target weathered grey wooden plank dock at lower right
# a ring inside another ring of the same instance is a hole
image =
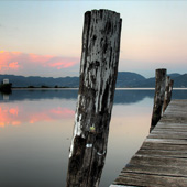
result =
[[[187,100],[173,100],[110,187],[187,187]]]

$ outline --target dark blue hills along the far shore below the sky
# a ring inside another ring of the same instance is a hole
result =
[[[187,74],[169,74],[174,79],[174,87],[187,88]],[[8,78],[12,82],[12,87],[70,87],[77,88],[79,86],[79,77],[38,77],[38,76],[15,76],[15,75],[0,75],[0,81]],[[119,72],[117,79],[118,88],[154,88],[155,78],[145,78],[140,74],[130,72]]]

